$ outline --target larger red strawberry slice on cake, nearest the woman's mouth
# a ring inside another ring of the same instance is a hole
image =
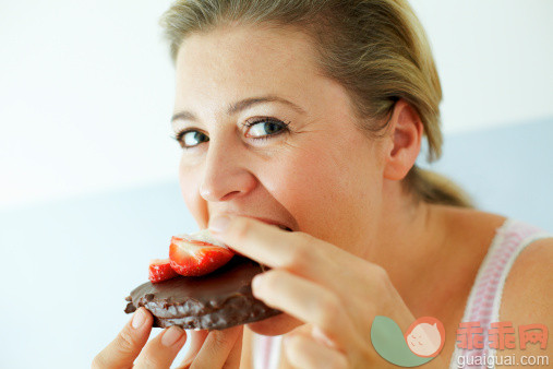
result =
[[[225,265],[235,252],[213,240],[206,230],[173,236],[169,247],[171,267],[184,276],[200,276]]]

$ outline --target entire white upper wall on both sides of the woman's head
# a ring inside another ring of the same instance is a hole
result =
[[[175,179],[169,0],[0,4],[0,207]],[[444,131],[553,116],[553,2],[417,0]]]

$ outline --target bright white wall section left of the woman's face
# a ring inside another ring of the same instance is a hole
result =
[[[175,176],[168,4],[2,1],[0,206]]]

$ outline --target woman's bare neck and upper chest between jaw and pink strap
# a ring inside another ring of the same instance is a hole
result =
[[[400,193],[384,199],[397,200],[383,204],[375,242],[365,259],[387,271],[414,316],[432,316],[446,303],[462,307],[505,217],[473,209],[414,204]]]

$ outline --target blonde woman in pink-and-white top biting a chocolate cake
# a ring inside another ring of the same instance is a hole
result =
[[[445,345],[426,366],[444,368],[469,355],[454,354],[461,321],[551,322],[553,238],[472,209],[414,165],[423,136],[429,160],[441,155],[442,92],[405,1],[177,1],[163,24],[185,203],[201,228],[273,266],[253,291],[286,313],[188,337],[171,328],[146,345],[141,309],[93,366],[168,367],[192,340],[183,367],[249,368],[269,354],[281,368],[392,367],[371,342],[384,316],[401,332],[437,318]],[[493,311],[474,302],[482,288]],[[259,342],[274,335],[282,345],[267,353]],[[497,355],[517,353],[543,354]]]

